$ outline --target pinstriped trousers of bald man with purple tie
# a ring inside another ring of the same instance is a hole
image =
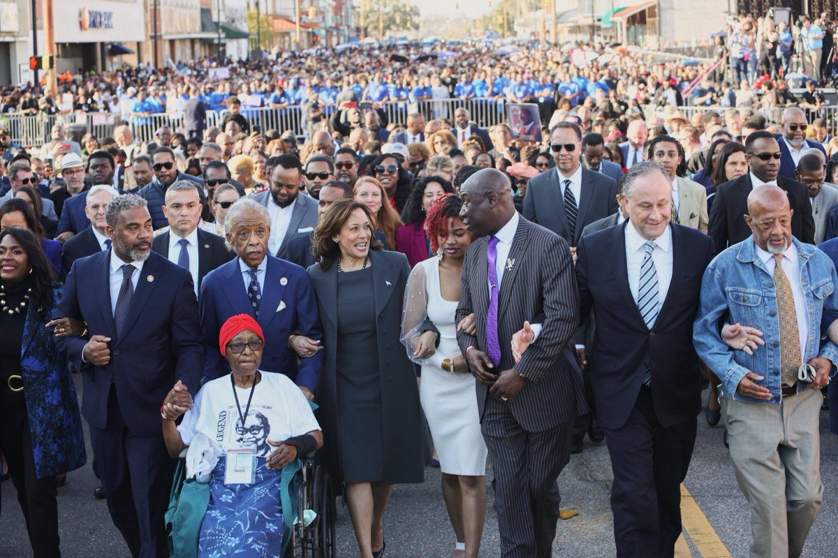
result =
[[[561,502],[556,479],[570,459],[572,421],[530,433],[507,403],[489,396],[481,430],[494,472],[501,555],[551,556]]]

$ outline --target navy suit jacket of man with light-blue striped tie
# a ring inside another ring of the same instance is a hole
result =
[[[587,366],[597,420],[604,428],[623,427],[649,366],[655,414],[661,426],[670,427],[701,411],[701,376],[692,344],[692,323],[699,306],[701,277],[713,258],[713,243],[694,229],[670,224],[672,282],[649,330],[629,288],[627,226],[623,223],[588,235],[577,249],[581,317],[589,315],[593,307],[597,322]]]

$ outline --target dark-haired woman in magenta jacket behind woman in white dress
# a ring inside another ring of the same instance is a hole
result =
[[[431,257],[431,244],[425,233],[425,216],[433,202],[443,194],[453,194],[451,182],[440,177],[425,177],[416,182],[407,200],[402,222],[396,230],[396,250],[407,256],[413,266]]]

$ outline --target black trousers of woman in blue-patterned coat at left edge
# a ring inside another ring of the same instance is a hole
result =
[[[3,384],[6,383],[3,378]],[[29,420],[23,392],[0,388],[0,451],[6,457],[8,473],[18,491],[18,504],[26,520],[34,558],[61,555],[58,535],[58,501],[55,477],[38,479]]]

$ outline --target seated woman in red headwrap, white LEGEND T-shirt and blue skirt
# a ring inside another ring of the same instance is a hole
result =
[[[160,411],[169,455],[188,448],[187,478],[209,481],[199,556],[281,555],[282,467],[323,445],[303,392],[283,374],[259,371],[264,342],[250,315],[230,317],[219,334],[230,375],[208,381],[194,400],[178,381]]]

